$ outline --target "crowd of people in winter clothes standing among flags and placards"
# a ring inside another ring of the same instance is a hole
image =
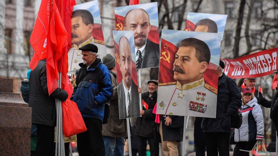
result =
[[[73,76],[73,94],[71,100],[77,103],[87,131],[65,140],[68,154],[69,142],[77,140],[79,155],[124,155],[127,139],[127,122],[119,119],[118,91],[116,80],[115,57],[107,54],[103,59],[97,58],[98,48],[87,44],[82,50],[83,63],[76,77]],[[266,100],[255,89],[255,78],[246,78],[240,88],[235,81],[223,73],[224,62],[218,66],[218,93],[216,118],[195,118],[194,143],[197,156],[229,155],[229,145],[236,143],[233,155],[248,155],[240,149],[251,150],[257,140],[263,140],[264,124],[259,105],[271,108],[270,118],[278,125],[278,102],[276,92],[272,100]],[[277,73],[275,71],[274,73]],[[21,91],[26,103],[32,107],[32,155],[55,155],[55,98],[65,101],[68,93],[57,88],[48,95],[46,60],[39,61],[37,67],[28,72],[28,79],[22,82]],[[30,75],[30,76],[29,76]],[[30,86],[30,87],[29,87]],[[30,88],[30,89],[29,89]],[[178,155],[177,142],[183,138],[182,116],[156,115],[153,113],[157,103],[158,82],[148,81],[148,91],[141,97],[148,108],[142,107],[141,117],[136,120],[132,136],[137,137],[138,154],[146,155],[147,144],[152,156],[159,155],[159,143],[166,156]],[[110,117],[107,124],[102,124],[104,103],[110,104]],[[231,117],[240,111],[242,124],[231,134]],[[159,122],[157,121],[159,119]],[[35,137],[35,138],[33,138]],[[34,152],[35,151],[35,152]],[[137,151],[136,151],[137,152]]]

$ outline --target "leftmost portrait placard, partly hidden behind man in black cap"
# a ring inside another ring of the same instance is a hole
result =
[[[92,43],[97,46],[97,57],[106,55],[103,38],[99,5],[97,0],[75,5],[71,17],[71,42],[72,47],[68,51],[68,71],[80,68],[82,63],[80,47]]]

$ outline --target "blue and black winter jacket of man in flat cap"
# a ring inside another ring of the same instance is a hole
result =
[[[77,104],[83,117],[103,120],[104,103],[108,102],[113,93],[111,76],[107,66],[96,59],[88,68],[81,67],[76,75],[76,87],[71,99]]]

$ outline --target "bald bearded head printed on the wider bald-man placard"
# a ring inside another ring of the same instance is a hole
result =
[[[143,47],[148,39],[151,24],[148,13],[144,9],[133,9],[124,17],[123,30],[134,32],[135,48]]]

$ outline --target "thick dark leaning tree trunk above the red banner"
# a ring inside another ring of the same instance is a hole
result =
[[[240,32],[242,26],[243,12],[246,0],[240,0],[240,6],[238,9],[238,19],[236,24],[236,34],[235,34],[235,43],[234,43],[234,58],[239,57],[239,41],[240,41]]]

